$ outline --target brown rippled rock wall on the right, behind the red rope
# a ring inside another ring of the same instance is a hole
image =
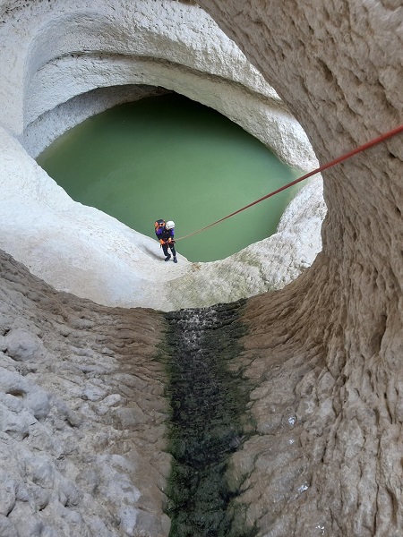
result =
[[[321,162],[402,124],[401,4],[201,5]],[[248,302],[259,434],[236,466],[264,535],[402,533],[402,147],[399,135],[323,174],[322,254],[283,291]]]

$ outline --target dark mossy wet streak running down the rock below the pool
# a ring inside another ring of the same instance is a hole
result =
[[[228,457],[253,428],[245,420],[250,387],[236,365],[242,303],[167,314],[171,362],[170,535],[252,537],[238,490],[227,481]]]

